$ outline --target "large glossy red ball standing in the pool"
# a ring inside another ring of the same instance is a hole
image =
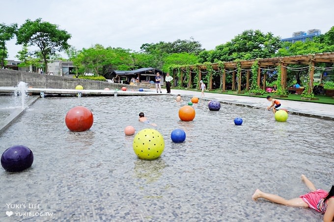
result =
[[[83,106],[77,106],[68,111],[65,123],[69,130],[75,132],[86,131],[93,125],[92,112]]]

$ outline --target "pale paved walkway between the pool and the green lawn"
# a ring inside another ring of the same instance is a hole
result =
[[[201,93],[198,91],[187,90],[171,90],[174,95],[181,94],[181,96],[196,96],[200,98]],[[256,108],[266,108],[270,103],[265,98],[245,97],[237,95],[227,95],[219,93],[205,92],[204,99],[216,99],[226,103],[239,104],[244,106],[251,106]],[[279,99],[282,103],[282,108],[287,109],[292,114],[303,115],[309,117],[317,117],[321,119],[334,120],[334,105],[321,104],[315,102],[301,102]]]

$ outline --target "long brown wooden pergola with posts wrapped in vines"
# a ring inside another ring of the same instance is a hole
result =
[[[241,69],[247,69],[246,73],[246,89],[248,90],[250,88],[250,68],[255,62],[255,59],[252,60],[241,60],[240,62]],[[237,70],[237,64],[238,62],[224,62],[224,69],[222,74],[222,91],[226,90],[225,85],[225,77],[226,77],[226,70],[232,69],[234,70],[232,72],[232,90],[235,89],[235,75]],[[310,87],[309,92],[313,88],[313,75],[314,75],[314,67],[316,63],[334,63],[334,52],[325,52],[325,53],[317,53],[317,54],[308,54],[308,55],[295,55],[295,56],[284,56],[284,57],[274,57],[274,58],[266,58],[266,59],[258,59],[258,70],[257,70],[257,85],[260,86],[261,82],[261,69],[269,68],[269,67],[275,67],[280,66],[281,71],[281,85],[283,89],[286,88],[286,79],[287,79],[287,66],[289,64],[298,64],[298,65],[309,65],[311,66],[310,72],[309,72],[309,78],[310,78]],[[211,63],[209,64],[212,66],[214,71],[219,71],[219,63]],[[202,78],[202,72],[204,70],[207,70],[208,64],[201,64],[201,65],[191,65],[190,67],[190,76],[188,80],[188,87],[190,88],[192,86],[192,70],[198,69],[198,81]],[[181,66],[181,85],[183,85],[183,69],[186,69],[186,66]],[[175,71],[173,72],[173,76],[175,79]],[[238,74],[238,92],[241,92],[241,78],[242,78],[242,71],[240,70],[240,73]],[[212,90],[212,73],[210,74],[208,83],[209,90]],[[199,84],[199,83],[198,83]],[[263,75],[263,89],[266,89],[266,73]]]

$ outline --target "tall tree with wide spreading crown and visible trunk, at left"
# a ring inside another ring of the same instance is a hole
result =
[[[44,61],[44,72],[48,72],[48,58],[56,51],[68,49],[70,45],[67,41],[71,35],[58,25],[43,22],[41,18],[35,21],[26,20],[17,32],[17,44],[27,44],[37,46]]]

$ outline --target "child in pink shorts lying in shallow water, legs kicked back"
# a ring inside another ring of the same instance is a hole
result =
[[[264,198],[274,203],[283,204],[290,207],[312,208],[324,215],[324,222],[332,222],[334,219],[334,185],[330,192],[321,189],[316,189],[315,186],[307,177],[302,174],[302,180],[311,190],[310,193],[300,196],[299,198],[284,199],[274,194],[267,194],[259,189],[255,191],[251,197],[253,200]]]

